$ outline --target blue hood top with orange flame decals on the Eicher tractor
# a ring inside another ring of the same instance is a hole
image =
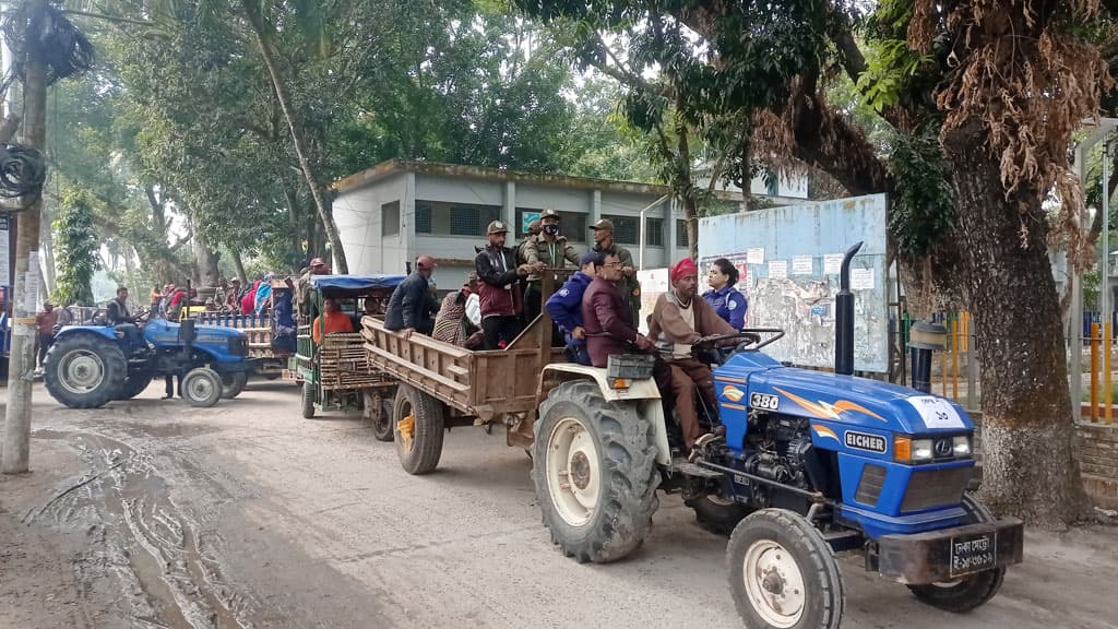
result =
[[[748,376],[750,396],[778,396],[779,412],[906,434],[974,430],[957,404],[869,378],[776,367]]]

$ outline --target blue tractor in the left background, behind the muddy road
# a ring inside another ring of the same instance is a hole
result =
[[[151,319],[135,326],[63,327],[47,353],[44,381],[70,409],[131,400],[158,376],[181,377],[182,396],[207,407],[235,397],[252,368],[239,330]],[[224,384],[224,386],[222,386]]]

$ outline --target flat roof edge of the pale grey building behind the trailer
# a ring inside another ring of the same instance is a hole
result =
[[[537,172],[524,172],[522,170],[504,170],[482,166],[463,166],[457,163],[439,163],[435,161],[415,161],[404,159],[390,159],[388,161],[382,161],[372,168],[367,168],[360,172],[339,179],[331,185],[331,189],[335,193],[344,193],[401,172],[442,175],[445,177],[466,177],[471,179],[485,179],[489,181],[537,184],[540,186],[551,186],[556,188],[603,190],[632,195],[651,195],[657,197],[671,193],[671,189],[667,186],[661,186],[657,184],[615,181],[612,179],[571,177],[568,175],[541,175]],[[719,196],[721,197],[722,195]],[[729,195],[724,198],[726,200],[740,200],[740,198],[736,198],[736,195]]]

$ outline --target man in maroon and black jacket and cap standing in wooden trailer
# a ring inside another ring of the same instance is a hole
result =
[[[512,342],[521,330],[523,299],[520,279],[533,271],[543,270],[543,263],[517,266],[515,252],[504,246],[509,235],[504,223],[494,220],[485,232],[489,246],[474,259],[474,266],[477,279],[481,280],[477,297],[481,300],[485,349],[498,349]]]

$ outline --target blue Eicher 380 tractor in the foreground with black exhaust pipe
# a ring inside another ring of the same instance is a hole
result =
[[[732,533],[730,589],[750,629],[839,627],[839,553],[939,609],[969,611],[997,593],[1006,566],[1022,561],[1023,525],[968,491],[970,419],[942,397],[853,375],[856,248],[836,300],[834,373],[759,351],[780,330],[697,344],[717,365],[724,434],[700,439],[688,458],[673,447],[679,429],[651,364],[543,368],[532,478],[565,555],[609,562],[637,548],[661,489],[681,494],[700,524]]]

